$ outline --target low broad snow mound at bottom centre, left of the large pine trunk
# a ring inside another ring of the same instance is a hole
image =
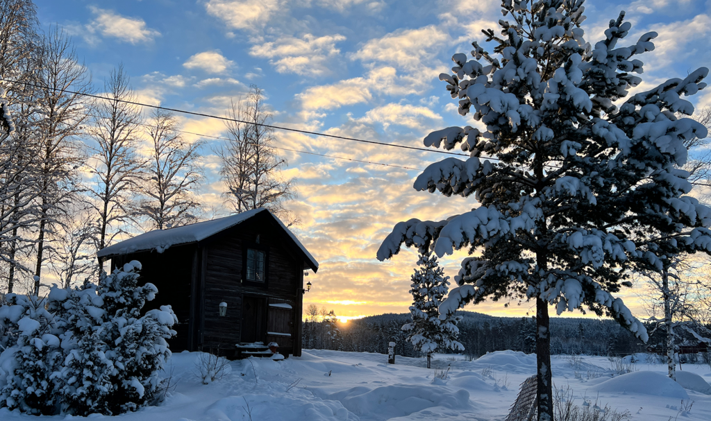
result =
[[[441,386],[403,384],[378,388],[358,386],[331,395],[326,395],[318,388],[309,390],[321,399],[340,401],[355,415],[368,420],[390,420],[390,418],[404,417],[433,407],[474,409],[469,403],[469,392],[460,389],[452,393],[451,390]]]

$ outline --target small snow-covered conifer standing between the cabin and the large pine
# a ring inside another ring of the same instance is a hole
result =
[[[415,351],[428,356],[437,349],[464,351],[464,346],[456,341],[459,336],[456,327],[459,317],[449,314],[441,320],[437,311],[449,292],[449,276],[444,276],[444,269],[437,264],[437,257],[429,251],[419,256],[417,265],[419,269],[415,269],[412,274],[410,285],[412,322],[402,327],[403,331],[410,334],[407,340],[412,342]]]

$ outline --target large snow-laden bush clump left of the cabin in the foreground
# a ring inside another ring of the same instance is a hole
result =
[[[46,300],[9,295],[0,307],[0,406],[111,415],[154,400],[176,317],[170,306],[141,317],[157,290],[137,285],[140,267],[102,273],[99,285],[55,286]]]

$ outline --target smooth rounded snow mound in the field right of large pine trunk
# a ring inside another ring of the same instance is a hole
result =
[[[667,376],[652,371],[637,371],[611,378],[598,385],[591,386],[589,391],[600,393],[626,393],[635,395],[656,395],[665,398],[688,400],[689,395]]]

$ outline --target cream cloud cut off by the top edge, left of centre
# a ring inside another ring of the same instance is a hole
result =
[[[250,31],[264,27],[282,6],[277,0],[209,0],[205,3],[208,14],[225,21],[230,28]]]

